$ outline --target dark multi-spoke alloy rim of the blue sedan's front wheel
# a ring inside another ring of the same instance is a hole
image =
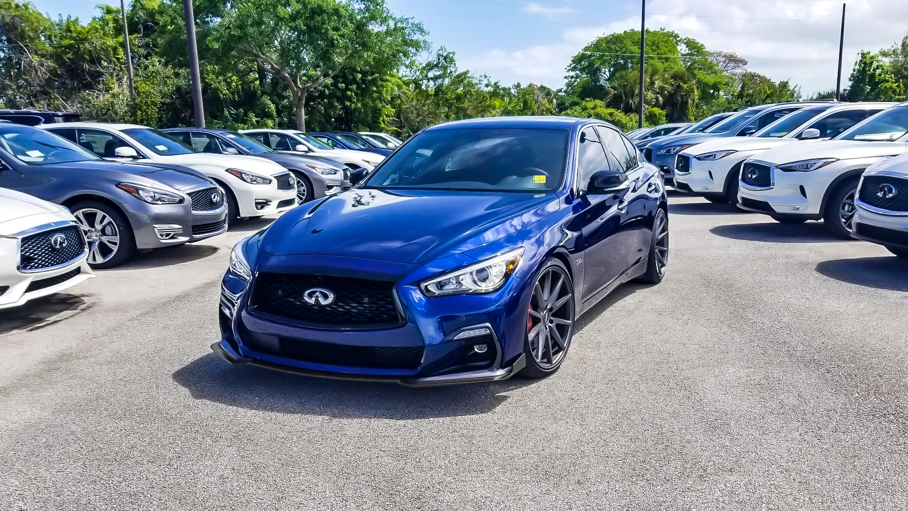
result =
[[[553,285],[554,284],[554,285]],[[549,267],[539,275],[529,300],[529,349],[538,366],[552,369],[568,352],[574,328],[573,290],[564,271]]]

